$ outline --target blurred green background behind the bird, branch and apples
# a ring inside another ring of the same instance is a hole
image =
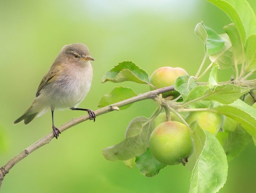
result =
[[[256,1],[249,0],[254,11]],[[38,84],[65,44],[85,43],[95,58],[93,84],[80,107],[97,109],[99,99],[114,86],[146,92],[145,85],[124,82],[101,84],[102,75],[123,60],[133,61],[149,75],[163,66],[182,67],[195,75],[202,61],[203,44],[194,34],[201,20],[218,33],[229,18],[204,0],[0,0],[0,165],[51,131],[50,113],[31,124],[12,123],[30,106]],[[232,72],[219,72],[219,80]],[[207,80],[207,77],[204,78]],[[3,193],[106,192],[185,193],[191,171],[181,164],[169,166],[153,178],[137,167],[104,159],[103,148],[124,139],[128,123],[150,116],[153,101],[114,111],[68,129],[52,142],[18,163],[5,177]],[[79,111],[57,111],[59,126]],[[229,163],[221,193],[254,193],[256,148]]]

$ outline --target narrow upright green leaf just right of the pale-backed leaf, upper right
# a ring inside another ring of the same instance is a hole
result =
[[[244,54],[244,44],[241,41],[236,26],[233,23],[224,26],[223,29],[227,33],[227,35],[229,35],[229,39],[232,43],[234,64],[238,64],[238,61]]]

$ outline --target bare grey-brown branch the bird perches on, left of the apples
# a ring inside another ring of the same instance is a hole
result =
[[[113,110],[118,110],[118,108],[115,107],[121,107],[124,105],[128,105],[130,103],[146,100],[146,99],[154,99],[157,95],[162,94],[164,92],[172,91],[174,90],[173,86],[165,87],[165,88],[160,88],[154,91],[149,91],[144,94],[140,94],[138,96],[134,96],[132,98],[126,99],[124,101],[120,101],[117,103],[114,103],[112,105],[103,107],[101,109],[98,109],[94,111],[96,116],[109,113],[110,111]],[[72,126],[75,126],[83,121],[89,120],[89,115],[86,114],[84,116],[78,117],[78,118],[72,118],[70,121],[65,123],[64,125],[61,125],[58,129],[60,132],[64,132],[65,130],[71,128]],[[27,147],[25,150],[20,152],[18,155],[16,155],[14,158],[10,159],[3,167],[0,168],[0,192],[1,192],[1,185],[3,182],[3,179],[6,174],[14,167],[17,163],[19,163],[22,159],[26,158],[29,154],[31,154],[33,151],[37,150],[38,148],[42,147],[45,144],[50,143],[50,141],[54,138],[53,133],[50,132],[48,135],[42,137],[39,139],[37,142],[33,143],[29,147]]]

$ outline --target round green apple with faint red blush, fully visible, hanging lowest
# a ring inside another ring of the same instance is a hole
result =
[[[161,163],[185,164],[193,152],[191,133],[181,122],[163,122],[151,133],[149,148],[154,158]]]

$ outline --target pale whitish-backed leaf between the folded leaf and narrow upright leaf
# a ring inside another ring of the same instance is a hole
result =
[[[220,69],[230,68],[234,65],[233,63],[233,54],[232,54],[232,45],[227,34],[220,34],[221,39],[225,42],[219,52],[209,56],[212,62],[215,62],[219,65]]]

